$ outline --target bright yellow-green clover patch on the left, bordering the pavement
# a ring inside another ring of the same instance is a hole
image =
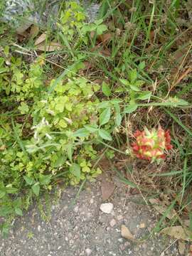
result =
[[[97,150],[86,143],[97,135],[85,129],[90,123],[97,126],[99,86],[70,77],[48,93],[55,80],[43,86],[38,61],[26,70],[19,59],[11,58],[8,67],[1,60],[1,70],[1,103],[11,112],[1,113],[0,122],[0,215],[11,220],[41,192],[50,191],[57,176],[75,185],[101,173],[92,164]],[[1,230],[6,233],[5,224]]]

